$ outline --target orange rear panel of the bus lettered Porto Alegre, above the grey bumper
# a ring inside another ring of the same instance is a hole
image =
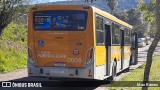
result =
[[[65,6],[36,6],[38,10],[31,10],[31,13],[45,10],[64,10]],[[88,7],[87,7],[88,8]],[[93,25],[92,9],[83,9],[81,6],[67,6],[65,10],[82,10],[88,12],[87,27],[84,31],[36,31],[33,30],[33,24],[29,32],[32,32],[34,42],[32,48],[35,48],[35,63],[38,66],[54,66],[54,63],[65,63],[65,67],[85,67],[87,50],[93,47]],[[29,18],[33,20],[33,16]],[[89,22],[90,21],[90,22]],[[31,21],[33,22],[33,21]],[[43,41],[44,46],[39,42]],[[73,55],[73,50],[78,49],[79,54]]]

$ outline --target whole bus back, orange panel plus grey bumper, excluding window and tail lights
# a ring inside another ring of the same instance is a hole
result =
[[[66,7],[66,8],[65,8]],[[36,31],[33,23],[29,23],[28,47],[32,50],[33,60],[28,59],[29,76],[53,78],[94,78],[94,55],[86,64],[89,49],[94,52],[93,10],[83,6],[36,6],[30,10],[29,22],[33,22],[33,13],[45,10],[82,10],[88,12],[87,27],[84,31]],[[86,9],[85,9],[86,8]],[[44,45],[40,45],[43,41]],[[78,49],[79,54],[73,55]],[[78,61],[77,58],[81,58]],[[76,61],[77,60],[77,61]],[[32,62],[33,61],[33,62]],[[55,63],[65,63],[56,67]]]

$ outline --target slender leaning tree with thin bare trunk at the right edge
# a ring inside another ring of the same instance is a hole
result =
[[[139,6],[140,10],[144,12],[145,19],[148,22],[156,23],[155,38],[147,52],[147,62],[146,62],[146,66],[144,70],[144,78],[143,78],[144,84],[149,82],[150,68],[152,65],[152,56],[160,40],[160,25],[159,25],[160,24],[160,6],[159,5],[160,5],[160,0],[151,0],[149,4],[144,4],[144,2],[142,1],[142,4]],[[156,16],[156,18],[154,18],[154,16]],[[142,90],[148,90],[148,87],[142,87]]]

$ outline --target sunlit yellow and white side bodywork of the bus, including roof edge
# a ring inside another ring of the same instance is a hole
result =
[[[132,29],[132,26],[117,19],[116,17],[104,12],[104,11],[101,11],[97,8],[94,8],[93,9],[95,14],[98,14],[100,15],[101,17],[103,18],[106,18],[107,20],[109,20],[109,22],[114,22],[114,23],[117,23],[119,25],[123,25],[127,28],[130,28]],[[96,16],[96,15],[94,15]],[[95,19],[96,17],[94,17],[93,19]],[[95,25],[96,25],[96,22],[94,21]],[[110,25],[110,24],[108,24]],[[95,26],[96,27],[96,26]],[[105,46],[97,46],[96,45],[96,28],[94,29],[94,45],[95,45],[95,48],[96,48],[96,59],[95,59],[95,62],[96,62],[96,67],[95,67],[95,79],[100,79],[100,80],[104,80],[106,79],[107,77],[110,77],[112,76],[112,65],[113,65],[113,62],[115,61],[116,64],[117,64],[117,70],[116,70],[116,73],[118,72],[121,72],[122,70],[124,69],[127,69],[129,67],[129,63],[130,63],[130,53],[131,53],[131,50],[130,50],[130,45],[129,46],[121,46],[121,45],[111,45],[109,46],[108,48],[111,49],[111,51],[109,51],[109,54],[107,54],[107,51],[109,49],[107,49]],[[107,36],[105,36],[105,38],[107,38]],[[124,63],[122,64],[122,47],[124,49]],[[110,55],[110,56],[106,56],[106,55]],[[111,60],[110,62],[110,67],[107,67],[107,60],[106,58],[108,57],[111,57],[109,58]],[[121,68],[123,66],[123,69]],[[110,68],[109,70],[109,74],[106,75],[107,73],[107,70]]]

